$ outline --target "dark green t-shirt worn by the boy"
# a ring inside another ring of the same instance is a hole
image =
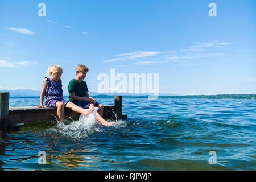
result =
[[[75,96],[86,97],[85,92],[88,92],[87,84],[84,80],[82,80],[80,83],[76,79],[73,79],[69,81],[68,92],[69,92],[69,101],[71,102],[72,102],[71,96],[70,96],[71,92],[75,92]]]

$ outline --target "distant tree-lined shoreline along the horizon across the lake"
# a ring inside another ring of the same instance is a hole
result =
[[[119,94],[122,95],[122,94]],[[148,95],[144,96],[131,96],[131,95],[122,95],[123,98],[148,98]],[[95,95],[94,98],[114,98],[114,95]],[[12,96],[10,98],[40,98],[40,96]],[[64,96],[64,98],[68,98],[68,96]],[[187,96],[158,96],[158,98],[195,98],[195,99],[256,99],[256,94],[218,94],[218,95],[187,95]]]

